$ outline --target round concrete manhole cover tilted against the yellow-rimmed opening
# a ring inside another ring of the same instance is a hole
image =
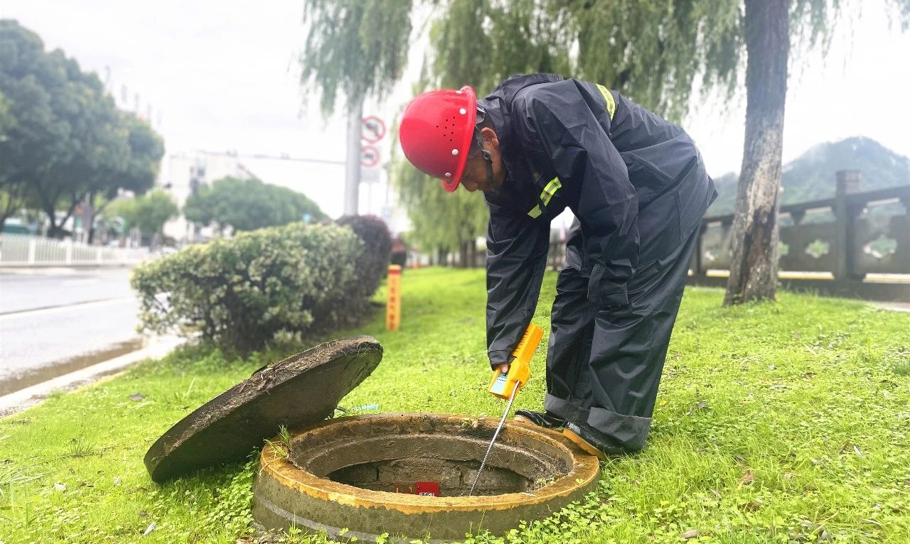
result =
[[[373,337],[321,344],[262,368],[167,430],[145,462],[161,482],[196,468],[246,458],[278,428],[298,428],[329,417],[341,398],[379,365]]]

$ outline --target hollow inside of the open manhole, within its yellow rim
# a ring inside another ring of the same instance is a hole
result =
[[[439,484],[440,497],[463,497],[477,477],[490,428],[470,419],[401,418],[339,421],[292,442],[288,458],[319,478],[361,489],[420,492]],[[505,433],[490,454],[474,495],[539,489],[569,472],[571,456],[532,437]]]

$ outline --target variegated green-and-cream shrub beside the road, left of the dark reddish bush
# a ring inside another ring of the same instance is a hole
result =
[[[349,229],[294,223],[185,247],[136,267],[132,286],[143,328],[198,331],[248,352],[278,331],[306,333],[359,318],[362,253]]]

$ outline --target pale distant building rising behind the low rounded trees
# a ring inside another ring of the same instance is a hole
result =
[[[231,154],[173,153],[162,159],[156,185],[174,196],[177,206],[182,210],[187,198],[194,195],[199,186],[211,185],[216,179],[227,176],[240,179],[256,177],[240,163],[237,156]],[[187,221],[182,214],[167,222],[164,233],[166,237],[174,238],[180,246],[205,241],[213,234],[211,228],[198,227]]]

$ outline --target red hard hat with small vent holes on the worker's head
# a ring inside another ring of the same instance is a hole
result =
[[[410,101],[399,126],[399,141],[411,164],[442,180],[450,193],[458,188],[477,119],[477,96],[470,86],[442,89]]]

